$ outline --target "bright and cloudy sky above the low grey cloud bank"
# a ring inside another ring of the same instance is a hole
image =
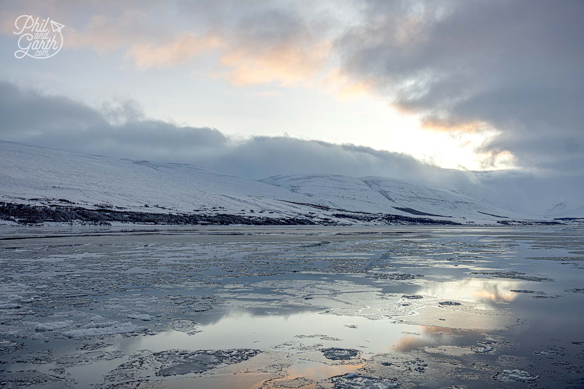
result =
[[[6,52],[27,13],[67,26],[42,72],[3,64],[5,81],[41,94],[132,100],[145,118],[239,139],[285,133],[457,171],[584,174],[575,2],[8,1]]]

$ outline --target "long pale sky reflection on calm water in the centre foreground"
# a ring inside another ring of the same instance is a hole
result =
[[[351,328],[347,326],[355,326]],[[271,349],[294,342],[322,347],[361,348],[364,352],[388,352],[404,331],[418,326],[388,323],[359,316],[340,316],[318,312],[297,314],[253,315],[244,310],[231,310],[212,324],[197,326],[201,332],[188,335],[180,331],[164,331],[156,336],[116,338],[124,352],[140,349],[206,350],[252,348]]]

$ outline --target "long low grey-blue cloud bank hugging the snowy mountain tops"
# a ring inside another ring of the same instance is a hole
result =
[[[388,176],[465,190],[503,206],[527,210],[550,208],[564,199],[581,200],[584,190],[581,175],[460,171],[354,144],[289,136],[241,139],[215,128],[148,118],[132,101],[95,109],[8,82],[0,82],[0,117],[2,140],[81,154],[202,165],[252,179],[314,172]]]

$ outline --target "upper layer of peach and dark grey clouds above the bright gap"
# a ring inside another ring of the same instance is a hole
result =
[[[69,47],[121,49],[140,68],[188,65],[206,53],[211,74],[235,86],[325,85],[340,99],[374,93],[430,130],[498,134],[478,151],[485,155],[584,172],[581,2],[337,6],[203,1],[168,12],[130,3],[122,16],[93,15],[72,29]]]

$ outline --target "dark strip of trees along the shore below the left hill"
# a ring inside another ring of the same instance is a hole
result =
[[[0,202],[0,219],[12,220],[20,224],[39,224],[46,221],[67,223],[81,221],[88,224],[109,225],[111,221],[151,224],[189,224],[189,225],[295,225],[316,224],[302,218],[271,218],[256,216],[237,216],[218,214],[148,213],[136,211],[114,211],[109,209],[84,209],[66,206],[31,206]]]

